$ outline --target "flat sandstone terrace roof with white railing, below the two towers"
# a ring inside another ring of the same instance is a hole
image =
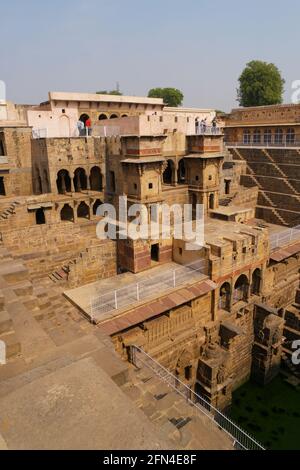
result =
[[[171,262],[141,273],[124,273],[67,290],[64,295],[94,323],[101,323],[208,279],[202,260],[187,266]]]

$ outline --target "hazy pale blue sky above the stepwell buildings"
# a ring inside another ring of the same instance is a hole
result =
[[[7,98],[114,89],[145,95],[174,86],[185,106],[237,105],[252,59],[300,79],[299,0],[0,0],[0,80]]]

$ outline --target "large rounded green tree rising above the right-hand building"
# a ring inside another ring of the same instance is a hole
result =
[[[282,103],[285,80],[274,64],[249,62],[239,78],[240,106],[266,106]]]

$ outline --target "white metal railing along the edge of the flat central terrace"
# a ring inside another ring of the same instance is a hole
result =
[[[206,272],[207,261],[198,260],[156,276],[147,276],[139,282],[130,283],[123,288],[112,290],[90,298],[90,314],[93,319],[99,315],[113,312],[140,302],[156,293],[175,289],[180,285],[199,280]]]

